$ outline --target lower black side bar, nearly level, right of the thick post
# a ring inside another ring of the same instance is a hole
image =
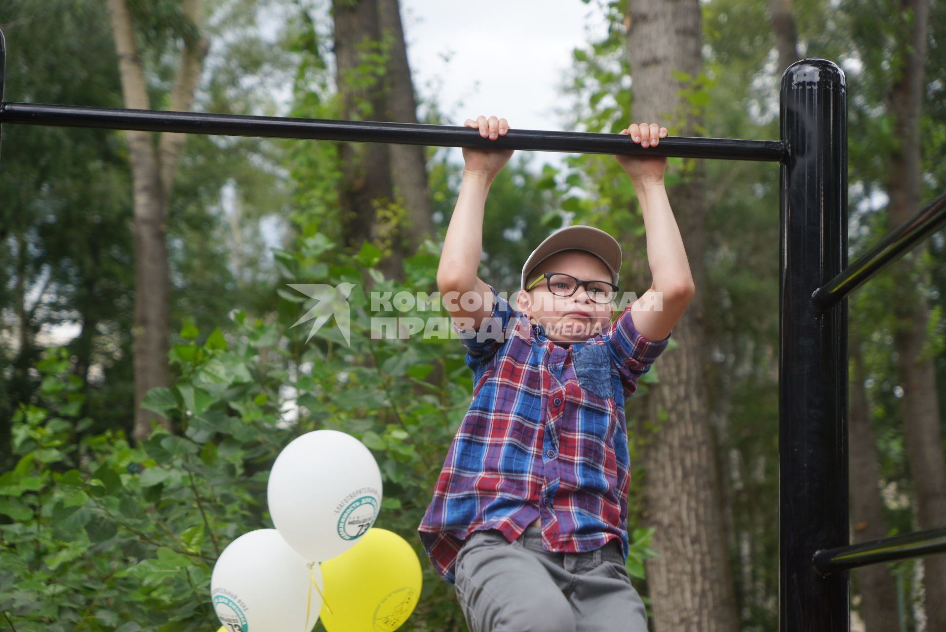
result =
[[[822,549],[815,553],[814,562],[818,571],[829,573],[933,553],[946,553],[946,527]]]

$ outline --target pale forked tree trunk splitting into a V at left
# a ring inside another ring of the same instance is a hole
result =
[[[184,0],[184,15],[201,25],[200,0]],[[134,38],[125,0],[108,0],[118,71],[125,107],[150,109],[145,69]],[[206,42],[184,41],[181,65],[171,89],[170,109],[190,109],[206,55]],[[125,132],[134,186],[134,430],[135,440],[148,438],[151,421],[170,429],[166,418],[141,408],[149,390],[169,384],[167,370],[168,265],[166,202],[170,195],[184,134],[163,134],[156,150],[150,132]]]

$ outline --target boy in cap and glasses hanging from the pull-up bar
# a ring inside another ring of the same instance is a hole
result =
[[[496,116],[464,125],[491,140],[509,129]],[[646,148],[667,130],[622,133]],[[477,276],[486,194],[512,154],[464,149],[437,286],[466,346],[473,399],[418,532],[473,632],[646,632],[624,568],[624,401],[694,292],[666,159],[616,156],[637,191],[653,284],[609,324],[622,253],[596,228],[569,226],[539,244],[516,310]]]

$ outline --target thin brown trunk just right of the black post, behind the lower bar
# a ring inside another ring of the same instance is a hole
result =
[[[851,332],[850,410],[848,412],[850,522],[853,541],[867,542],[886,535],[884,504],[877,483],[877,444],[870,427],[870,406],[864,388],[864,360],[861,345]],[[897,630],[897,590],[893,576],[884,565],[854,571],[861,593],[861,618],[867,632]]]

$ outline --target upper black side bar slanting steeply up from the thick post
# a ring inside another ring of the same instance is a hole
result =
[[[815,290],[812,294],[815,307],[825,309],[836,305],[850,292],[867,283],[870,277],[883,271],[920,241],[936,233],[943,225],[946,225],[946,193],[924,206],[916,216],[904,221],[824,287]]]

